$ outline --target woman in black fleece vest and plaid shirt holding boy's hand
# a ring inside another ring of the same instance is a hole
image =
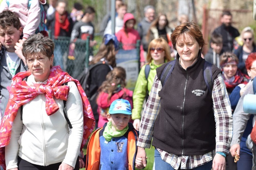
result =
[[[143,165],[136,167],[146,166],[145,148],[153,137],[155,169],[225,169],[233,123],[221,70],[207,63],[213,80],[208,88],[201,57],[204,39],[194,22],[177,26],[171,39],[176,59],[156,69],[137,142],[136,159]]]

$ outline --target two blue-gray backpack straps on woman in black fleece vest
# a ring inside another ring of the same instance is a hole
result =
[[[166,80],[171,75],[171,72],[174,68],[175,63],[176,63],[176,60],[173,60],[169,62],[168,65],[166,65],[165,69],[163,69],[163,72],[160,77],[162,87],[163,85],[165,85]],[[212,64],[207,61],[205,61],[203,65],[203,77],[208,90],[212,92],[212,89],[213,89]]]

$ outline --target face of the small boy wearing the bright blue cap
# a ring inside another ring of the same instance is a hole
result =
[[[112,122],[112,130],[115,131],[122,131],[131,120],[131,115],[126,115],[122,113],[118,114],[107,114],[107,118],[109,121]]]

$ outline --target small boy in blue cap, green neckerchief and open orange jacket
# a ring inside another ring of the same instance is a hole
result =
[[[86,169],[134,169],[137,152],[137,131],[131,120],[128,100],[113,101],[106,115],[109,120],[97,129],[87,146]],[[142,161],[136,160],[139,164]]]

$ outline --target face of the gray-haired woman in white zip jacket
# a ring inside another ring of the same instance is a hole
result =
[[[51,65],[53,64],[53,55],[51,58],[41,55],[31,55],[27,57],[26,62],[31,74],[34,75],[36,82],[44,82],[48,79]]]

